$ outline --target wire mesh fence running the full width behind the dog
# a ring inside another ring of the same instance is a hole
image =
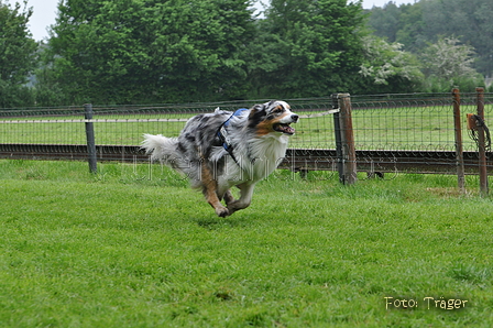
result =
[[[475,97],[476,94],[461,95],[461,129],[465,152],[478,151],[475,141],[468,136],[465,116],[476,111]],[[123,147],[127,147],[125,152],[129,147],[138,149],[144,133],[177,136],[185,122],[196,114],[213,112],[217,107],[234,111],[264,101],[94,106],[91,122],[96,144],[112,146],[114,150],[114,156],[105,158],[118,160],[122,157],[118,153]],[[296,150],[296,154],[310,157],[313,162],[327,162],[328,170],[333,167],[336,133],[330,111],[332,98],[288,99],[287,102],[300,116],[289,147]],[[453,98],[450,94],[351,96],[351,106],[359,166],[392,171],[394,164],[407,163],[418,172],[426,172],[430,165],[445,164],[441,171],[453,173],[456,141]],[[486,124],[492,111],[493,94],[484,94]],[[36,145],[40,152],[72,146],[69,152],[76,153],[84,150],[87,143],[87,122],[83,106],[3,110],[0,111],[0,145],[8,149],[4,153],[10,156],[28,152],[29,145]],[[306,152],[309,150],[313,152]],[[474,158],[471,157],[471,161]]]

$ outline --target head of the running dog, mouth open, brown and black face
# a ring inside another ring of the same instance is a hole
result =
[[[249,117],[249,128],[256,129],[258,135],[269,133],[281,133],[293,135],[295,129],[289,124],[296,123],[299,117],[291,111],[287,102],[272,100],[265,103],[255,105]]]

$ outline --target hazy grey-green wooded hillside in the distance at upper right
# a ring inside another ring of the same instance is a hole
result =
[[[417,54],[442,36],[460,37],[475,48],[475,68],[493,75],[493,1],[421,0],[399,7],[390,1],[370,12],[369,25],[375,35]]]

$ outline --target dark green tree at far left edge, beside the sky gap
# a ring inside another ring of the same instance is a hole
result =
[[[24,10],[15,3],[12,9],[0,2],[0,106],[33,106],[34,98],[25,86],[28,77],[36,65],[36,42],[28,30],[29,19],[33,11]]]

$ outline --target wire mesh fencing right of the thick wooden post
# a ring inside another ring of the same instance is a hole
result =
[[[493,112],[493,95],[485,116]],[[475,112],[475,94],[461,95],[464,151],[476,151],[465,138],[468,112]],[[450,94],[351,97],[355,147],[385,151],[456,151],[453,101]]]

